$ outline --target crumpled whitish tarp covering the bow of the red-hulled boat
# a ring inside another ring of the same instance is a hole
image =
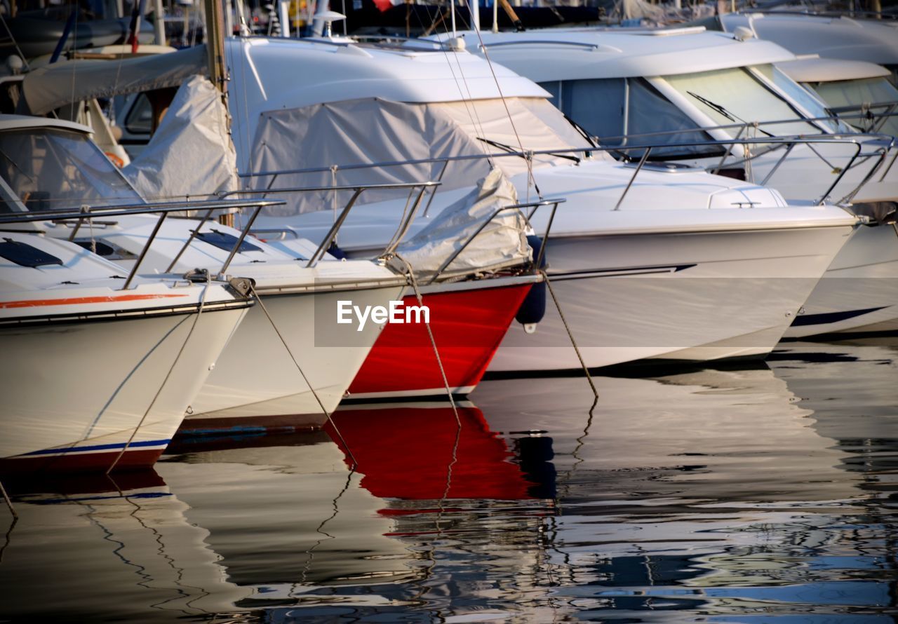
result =
[[[532,258],[533,251],[527,242],[524,215],[520,210],[496,214],[500,208],[516,203],[514,185],[500,169],[494,168],[478,180],[477,187],[468,195],[445,207],[433,223],[403,242],[396,250],[398,257],[390,263],[405,271],[408,262],[416,275],[434,275],[475,233],[473,240],[445,268],[443,276],[497,270],[526,262]],[[488,224],[477,233],[484,223]]]

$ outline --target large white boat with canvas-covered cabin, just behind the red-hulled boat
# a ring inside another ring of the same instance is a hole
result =
[[[536,188],[567,198],[548,272],[591,367],[763,356],[857,223],[838,207],[790,207],[775,190],[691,168],[650,165],[634,180],[636,168],[591,149],[547,92],[462,50],[252,39],[229,40],[227,58],[238,166],[251,188],[441,180],[418,227],[493,164],[518,198]],[[315,149],[296,150],[300,142]],[[577,153],[550,154],[564,149]],[[531,150],[535,185],[515,154]],[[290,200],[260,215],[260,227],[316,240],[333,217],[314,202],[331,200]],[[383,242],[405,204],[381,196],[358,207],[340,247]],[[548,220],[533,216],[538,233]],[[509,331],[490,370],[578,366],[548,307],[535,333]]]

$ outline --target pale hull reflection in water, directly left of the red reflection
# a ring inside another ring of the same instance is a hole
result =
[[[315,601],[346,602],[342,586],[417,575],[413,553],[386,536],[384,501],[359,487],[324,432],[194,438],[173,452],[178,461],[159,472],[210,532],[228,578],[251,589],[241,607],[301,603],[316,590]]]

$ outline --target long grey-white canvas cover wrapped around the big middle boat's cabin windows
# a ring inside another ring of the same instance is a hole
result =
[[[255,189],[441,180],[442,190],[471,187],[494,165],[511,177],[526,171],[527,164],[521,156],[495,158],[494,163],[482,157],[448,163],[439,159],[517,152],[521,145],[525,151],[589,146],[559,110],[541,98],[429,103],[370,98],[270,110],[262,113],[252,145],[252,171],[322,170],[257,176],[251,178]],[[409,163],[427,159],[436,161]],[[397,164],[350,168],[374,163]],[[559,164],[571,161],[556,155],[533,159],[534,167]],[[336,171],[331,170],[334,165]],[[365,191],[359,202],[395,197],[385,193]],[[291,195],[285,197],[286,206],[271,208],[269,214],[330,209],[335,201],[327,192]],[[345,194],[336,203],[343,206],[347,200]]]

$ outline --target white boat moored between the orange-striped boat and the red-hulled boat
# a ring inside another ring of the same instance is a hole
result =
[[[54,119],[0,119],[0,145],[7,162],[15,164],[4,176],[14,209],[40,211],[91,201],[141,202],[92,145],[88,132],[87,127]],[[32,152],[32,147],[43,151]],[[65,156],[71,171],[62,175],[53,168],[55,161],[44,163],[40,154]],[[37,172],[40,191],[35,192],[30,185]],[[139,259],[141,272],[200,267],[213,273],[236,272],[255,281],[254,293],[265,309],[260,305],[251,310],[221,356],[216,353],[204,365],[202,389],[179,404],[181,415],[188,412],[185,427],[321,425],[326,412],[337,407],[382,329],[375,323],[358,331],[338,325],[338,301],[387,306],[401,297],[405,277],[367,260],[325,261],[310,267],[297,261],[297,252],[255,240],[241,242],[240,252],[233,254],[228,266],[240,231],[209,224],[193,238],[192,231],[199,231],[195,219],[167,219],[154,233],[159,223],[159,217],[152,215],[122,215],[114,221],[102,217],[84,223],[48,221],[43,227],[48,236],[75,238],[87,247],[97,245],[124,267],[133,267]],[[185,246],[191,239],[199,240]],[[313,251],[314,247],[305,250],[309,256]],[[215,365],[210,367],[212,362]]]

